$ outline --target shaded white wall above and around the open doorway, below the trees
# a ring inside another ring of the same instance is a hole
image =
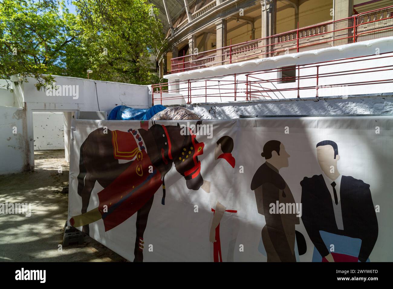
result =
[[[18,79],[13,77],[12,80]],[[151,92],[147,85],[94,81],[64,76],[55,76],[55,81],[55,84],[59,86],[73,86],[75,92],[77,88],[78,95],[74,97],[48,96],[46,89],[37,91],[34,86],[37,81],[32,77],[28,77],[27,82],[25,81],[17,87],[12,85],[14,105],[24,107],[22,111],[26,119],[22,138],[28,144],[28,152],[25,152],[28,160],[24,165],[19,163],[19,170],[16,171],[34,168],[33,112],[75,112],[75,117],[77,117],[79,111],[105,111],[109,114],[116,105],[128,105],[134,108],[148,108],[151,106]],[[11,105],[11,99],[5,99],[4,102],[0,100],[0,105]],[[3,114],[0,114],[0,122],[3,121],[6,120]],[[19,130],[21,124],[18,123],[17,125]],[[0,147],[7,146],[4,142],[3,138],[0,139]],[[0,173],[11,172],[7,169],[6,162],[2,162],[0,167]]]

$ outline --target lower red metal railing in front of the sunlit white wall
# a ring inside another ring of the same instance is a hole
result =
[[[351,69],[351,63],[356,63],[356,67],[361,68]],[[376,63],[378,65],[375,65]],[[172,104],[192,103],[195,100],[203,103],[208,102],[208,98],[210,101],[212,99],[239,101],[299,98],[303,90],[309,90],[305,92],[306,96],[310,96],[314,91],[314,96],[318,97],[320,90],[327,88],[393,83],[392,70],[393,51],[380,55],[364,55],[242,74],[200,77],[152,85],[152,104],[158,101],[165,105],[173,100],[176,101]],[[288,72],[295,74],[285,76]],[[277,77],[277,75],[280,76]],[[286,85],[277,86],[280,83],[286,83]],[[388,92],[393,92],[393,86],[390,86],[388,90]],[[373,91],[381,93],[378,89]]]

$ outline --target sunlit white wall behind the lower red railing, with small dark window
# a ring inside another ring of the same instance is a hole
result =
[[[363,42],[356,42],[354,44],[346,44],[342,46],[334,46],[332,48],[324,48],[320,50],[312,50],[307,52],[292,53],[288,55],[282,55],[277,57],[271,57],[266,59],[244,61],[242,63],[228,64],[217,67],[209,67],[198,70],[192,70],[188,72],[182,72],[177,74],[165,75],[169,82],[180,80],[178,88],[180,88],[179,93],[184,95],[185,101],[187,102],[188,94],[188,79],[191,80],[192,88],[191,91],[192,103],[204,103],[206,102],[205,93],[211,96],[207,97],[207,102],[228,102],[234,101],[233,89],[234,89],[234,76],[218,77],[217,75],[227,75],[227,74],[237,74],[236,79],[239,82],[237,84],[237,101],[246,100],[246,73],[252,71],[276,69],[283,66],[290,65],[304,65],[309,63],[316,63],[322,61],[331,61],[335,59],[344,59],[349,57],[357,57],[362,55],[373,55],[376,52],[392,52],[393,51],[393,37],[386,37],[375,40],[368,40]],[[390,53],[389,55],[393,55]],[[380,55],[382,57],[384,55]],[[319,69],[319,74],[328,72],[341,72],[346,70],[355,70],[360,68],[371,68],[376,66],[393,65],[393,57],[391,58],[381,58],[374,59],[364,62],[354,62],[347,64],[337,64],[334,66],[323,66]],[[383,69],[383,68],[379,68]],[[301,75],[312,75],[316,74],[316,68],[305,68],[300,70]],[[298,75],[298,74],[296,74]],[[274,70],[265,74],[255,75],[261,79],[277,79],[279,78],[277,70]],[[204,77],[212,77],[206,79],[197,79]],[[323,77],[319,79],[319,85],[326,87],[331,84],[338,83],[353,83],[361,81],[373,81],[378,79],[393,79],[393,70],[381,71],[381,72],[370,72],[364,74],[352,74],[352,75],[342,75],[334,77]],[[183,81],[183,82],[182,82]],[[220,83],[218,83],[220,81]],[[205,85],[208,85],[205,92]],[[263,83],[261,85],[267,89],[285,89],[285,88],[297,88],[298,83],[277,83],[274,81],[272,83]],[[300,90],[301,98],[310,98],[316,96],[316,79],[301,79],[300,87],[309,86],[312,87],[308,90]],[[337,95],[356,95],[356,94],[375,94],[375,93],[389,93],[393,92],[392,83],[378,84],[378,85],[359,85],[352,87],[338,87],[338,88],[320,88],[319,96],[337,96]],[[177,88],[175,84],[169,85],[169,90]],[[228,89],[229,88],[229,89]],[[230,94],[228,94],[230,92]],[[227,93],[227,94],[226,94]],[[203,95],[203,96],[202,96]],[[230,95],[231,97],[226,97]],[[290,99],[297,98],[297,90],[285,91],[285,92],[264,92],[254,94],[256,98],[253,99]],[[155,94],[154,98],[157,98],[159,94]],[[194,97],[196,96],[196,97]],[[179,104],[183,100],[177,100]],[[163,105],[165,105],[165,100]],[[173,104],[173,101],[170,103]]]

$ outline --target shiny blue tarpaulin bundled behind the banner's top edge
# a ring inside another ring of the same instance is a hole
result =
[[[119,105],[112,109],[108,120],[150,120],[154,114],[166,109],[163,105],[153,105],[150,109],[133,109]]]

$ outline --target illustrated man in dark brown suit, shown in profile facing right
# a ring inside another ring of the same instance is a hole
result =
[[[271,204],[294,204],[295,200],[285,180],[279,174],[288,167],[290,155],[278,140],[270,140],[263,146],[261,155],[266,159],[254,174],[251,190],[255,191],[258,213],[265,216],[262,241],[268,262],[296,262],[295,225],[299,224],[296,212],[273,214]]]

